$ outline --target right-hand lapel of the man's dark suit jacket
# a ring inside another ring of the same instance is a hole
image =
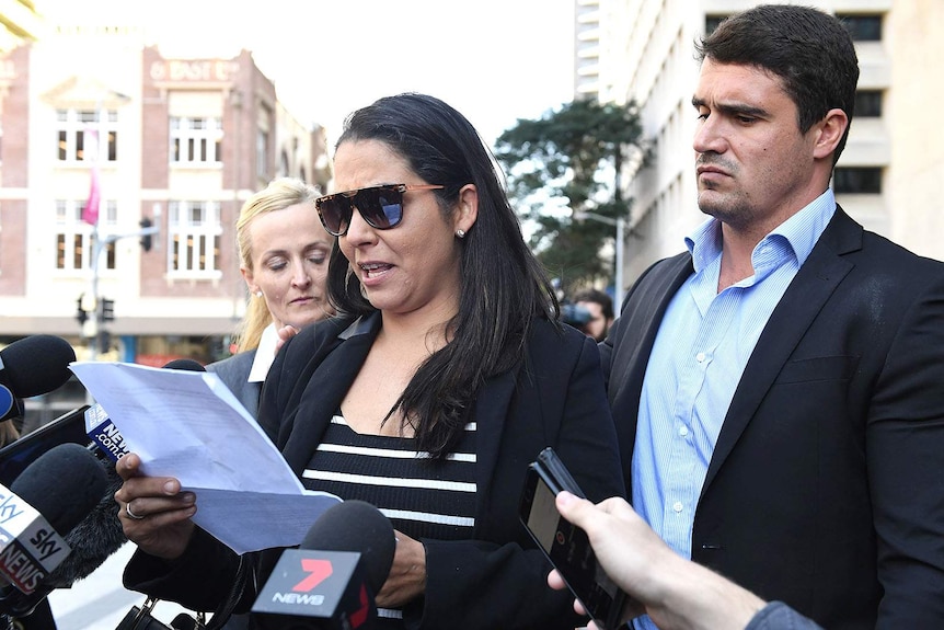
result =
[[[852,270],[853,265],[841,257],[842,254],[861,247],[862,227],[837,206],[836,214],[813,248],[809,257],[771,313],[748,359],[718,434],[702,486],[702,495],[740,438],[748,422],[753,417],[783,366],[790,360],[803,335]]]

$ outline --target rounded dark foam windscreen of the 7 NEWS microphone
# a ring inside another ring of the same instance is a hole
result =
[[[300,549],[358,551],[367,583],[377,593],[393,565],[396,538],[390,519],[365,501],[344,501],[319,516],[306,534]]]

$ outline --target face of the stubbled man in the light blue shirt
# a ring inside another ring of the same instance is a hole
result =
[[[814,171],[818,125],[799,133],[796,105],[779,77],[706,58],[692,104],[703,213],[762,236],[824,192]]]

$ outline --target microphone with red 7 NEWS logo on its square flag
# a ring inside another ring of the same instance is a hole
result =
[[[368,630],[377,620],[373,595],[393,564],[390,520],[364,501],[326,509],[298,549],[286,549],[252,611],[292,630]]]

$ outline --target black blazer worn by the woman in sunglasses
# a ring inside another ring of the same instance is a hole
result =
[[[258,419],[297,473],[310,461],[379,325],[379,316],[357,322],[334,318],[307,327],[279,351]],[[426,593],[404,610],[406,627],[573,629],[578,623],[573,597],[548,587],[550,564],[518,519],[518,500],[528,463],[545,446],[554,447],[588,497],[625,495],[597,345],[569,327],[561,333],[546,320],[536,321],[520,364],[483,385],[472,414],[477,425],[473,538],[423,540]],[[196,536],[170,574],[137,554],[126,584],[191,608],[214,608],[227,582],[208,568],[229,576],[234,565],[207,538]],[[263,560],[260,584],[274,555]],[[246,593],[243,607],[253,596]]]

